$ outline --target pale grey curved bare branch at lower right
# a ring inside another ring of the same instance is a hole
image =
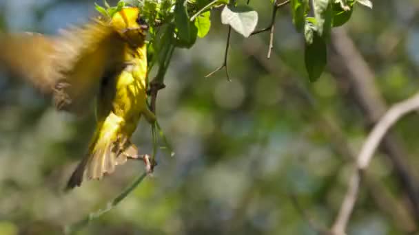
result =
[[[367,140],[362,145],[360,154],[358,155],[358,160],[356,164],[356,170],[349,179],[349,186],[345,199],[343,200],[342,205],[340,206],[340,211],[336,218],[334,225],[332,226],[332,232],[336,235],[345,234],[347,223],[351,216],[352,211],[354,210],[354,205],[356,199],[358,198],[358,191],[360,188],[360,180],[362,177],[362,171],[366,170],[371,162],[376,149],[378,148],[380,142],[385,137],[385,134],[391,126],[394,126],[401,117],[407,115],[419,109],[419,93],[416,93],[415,96],[404,100],[398,104],[394,104],[391,109],[389,109],[380,121],[374,126],[374,129],[369,133]]]

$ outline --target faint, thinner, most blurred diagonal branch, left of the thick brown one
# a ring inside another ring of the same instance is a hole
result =
[[[281,61],[280,57],[274,55],[268,60],[265,56],[260,54],[260,48],[263,47],[263,44],[264,43],[260,38],[252,38],[243,45],[243,50],[247,54],[254,56],[269,74],[272,74],[273,76],[281,75],[294,78],[295,76],[292,76],[292,68],[287,67],[287,65]],[[340,129],[339,124],[334,122],[334,119],[322,112],[321,109],[318,109],[316,98],[311,96],[311,93],[307,91],[303,82],[298,79],[282,81],[293,82],[293,84],[290,84],[289,86],[296,87],[296,91],[300,93],[300,96],[302,96],[304,100],[306,100],[307,109],[305,110],[318,113],[320,121],[319,129],[331,139],[332,148],[336,154],[346,157],[346,160],[356,162],[358,156],[347,142],[347,138]],[[285,85],[287,84],[281,83],[280,87],[284,87]],[[371,194],[375,203],[380,207],[380,210],[383,210],[390,216],[400,230],[403,232],[416,231],[415,222],[411,218],[410,212],[407,210],[409,205],[400,203],[374,175],[364,172],[362,179],[362,182],[365,183],[368,192]],[[352,179],[351,182],[356,183],[357,181]],[[353,194],[353,192],[351,194]],[[297,208],[297,210],[299,209]],[[322,227],[322,225],[316,223],[313,219],[311,219],[310,223],[314,223],[316,227]]]

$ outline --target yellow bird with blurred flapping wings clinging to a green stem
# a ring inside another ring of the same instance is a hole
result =
[[[96,97],[96,131],[67,188],[139,156],[130,137],[141,115],[155,122],[147,106],[147,30],[138,8],[123,8],[57,37],[0,35],[0,65],[52,94],[57,109],[79,113]]]

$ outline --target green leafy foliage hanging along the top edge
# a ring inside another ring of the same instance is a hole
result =
[[[167,50],[161,45],[171,44],[173,47],[190,48],[196,38],[204,38],[210,32],[211,10],[223,7],[221,12],[221,23],[229,25],[238,34],[248,37],[255,32],[258,24],[258,12],[249,5],[236,3],[238,1],[228,0],[125,0],[129,5],[135,5],[143,9],[143,15],[150,23],[149,53],[154,55],[169,55],[157,52],[160,49]],[[271,0],[278,4],[278,1]],[[96,10],[101,14],[112,16],[114,12],[123,7],[120,1],[116,7],[110,7],[105,2],[105,8],[96,5]],[[309,0],[291,0],[289,5],[292,10],[292,22],[298,32],[305,36],[305,64],[311,82],[317,80],[322,74],[326,64],[325,42],[328,41],[331,27],[339,27],[351,18],[354,4],[360,3],[372,8],[369,0],[312,0],[312,15],[309,17]],[[278,8],[278,5],[274,5]],[[276,9],[277,10],[277,9]],[[167,25],[172,25],[167,27]],[[159,28],[173,28],[167,36],[165,30]],[[163,34],[167,41],[162,41]],[[159,42],[161,45],[154,45]],[[323,51],[324,50],[324,51]],[[319,58],[316,59],[316,54]],[[149,55],[150,58],[152,56]],[[157,58],[153,61],[167,61],[170,58]],[[154,63],[152,63],[154,65]],[[161,76],[164,77],[164,74]]]

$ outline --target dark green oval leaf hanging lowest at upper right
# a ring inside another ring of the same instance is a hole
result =
[[[324,39],[313,32],[312,43],[305,44],[305,68],[309,81],[315,82],[325,70],[327,64],[327,47]]]

